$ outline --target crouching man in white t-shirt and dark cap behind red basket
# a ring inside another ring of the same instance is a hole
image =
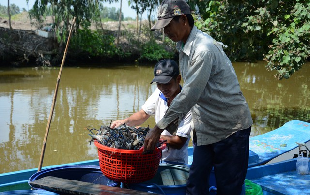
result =
[[[166,113],[173,98],[180,93],[181,75],[178,64],[173,60],[161,60],[154,67],[154,79],[151,84],[157,84],[156,90],[142,105],[142,109],[124,120],[116,120],[111,123],[111,128],[118,127],[121,124],[129,126],[138,126],[146,121],[151,115],[155,115],[155,122],[158,122]],[[188,163],[188,142],[191,132],[190,122],[191,113],[188,112],[183,120],[174,121],[164,130],[160,138],[167,140],[167,145],[162,152],[163,161],[173,161],[181,164]]]

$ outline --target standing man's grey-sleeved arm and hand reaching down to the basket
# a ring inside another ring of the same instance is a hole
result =
[[[202,51],[193,57],[182,91],[172,100],[165,116],[146,135],[144,151],[153,151],[163,129],[176,118],[183,119],[183,114],[196,104],[210,78],[213,61],[214,57],[208,51]]]

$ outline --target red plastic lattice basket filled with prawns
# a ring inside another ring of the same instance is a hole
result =
[[[99,165],[105,177],[114,182],[140,183],[152,179],[158,169],[161,150],[166,148],[163,143],[152,154],[142,154],[140,150],[123,150],[110,148],[94,142],[98,148]]]

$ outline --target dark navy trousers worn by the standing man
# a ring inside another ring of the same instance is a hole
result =
[[[217,195],[240,195],[248,169],[251,126],[214,144],[197,146],[193,138],[193,163],[186,195],[208,195],[214,167]]]

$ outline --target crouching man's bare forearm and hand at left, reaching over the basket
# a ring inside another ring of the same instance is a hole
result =
[[[111,128],[114,129],[115,127],[118,127],[124,123],[128,126],[138,126],[145,122],[145,120],[147,120],[150,116],[151,115],[146,114],[144,110],[141,109],[126,119],[113,121],[111,123]]]

